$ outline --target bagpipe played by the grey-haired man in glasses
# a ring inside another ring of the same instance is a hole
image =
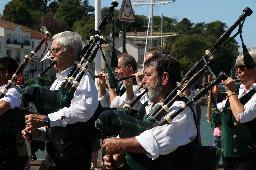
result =
[[[101,35],[102,31],[104,30],[106,24],[108,23],[109,19],[111,18],[111,15],[112,15],[112,24],[113,24],[113,17],[114,17],[113,11],[114,11],[114,8],[118,6],[118,2],[112,1],[111,5],[112,6],[109,8],[108,13],[101,20],[97,29],[95,30],[94,36],[90,37],[89,43],[83,48],[83,50],[80,54],[83,57],[74,63],[73,68],[69,72],[68,76],[66,78],[64,78],[61,86],[59,87],[59,89],[57,91],[51,91],[51,90],[45,88],[45,85],[47,82],[44,79],[44,74],[52,66],[54,66],[54,64],[56,62],[51,63],[46,68],[46,70],[44,70],[42,73],[38,74],[35,84],[29,85],[29,86],[27,86],[27,88],[25,88],[23,93],[20,95],[20,98],[22,99],[23,109],[26,114],[30,112],[29,108],[28,108],[29,102],[33,102],[37,109],[37,111],[33,111],[33,113],[41,114],[41,115],[47,115],[49,113],[56,112],[64,107],[70,106],[71,100],[73,99],[75,91],[77,90],[78,86],[80,85],[80,81],[81,81],[82,77],[84,76],[84,73],[88,72],[87,68],[93,62],[98,50],[100,49],[102,51],[101,44],[104,43],[106,41],[106,39],[100,35]],[[113,52],[114,52],[114,46],[113,46]],[[116,54],[114,57],[116,58]],[[112,58],[114,58],[114,57],[112,57]],[[104,58],[104,54],[103,54],[103,58]],[[117,61],[117,59],[115,59],[114,62],[115,61]],[[106,65],[107,65],[107,63],[106,63]],[[117,65],[117,63],[116,63],[116,65]],[[107,65],[107,67],[108,67],[108,65]],[[113,74],[112,74],[112,76],[113,76]],[[114,81],[114,85],[116,85],[116,81]],[[96,113],[101,113],[104,110],[106,110],[106,108],[98,107],[96,110]],[[95,116],[96,115],[97,114],[95,114]],[[55,127],[55,128],[57,128],[58,130],[60,130],[62,132],[65,132],[67,134],[70,134],[70,135],[73,135],[76,137],[90,138],[91,134],[95,134],[95,138],[99,139],[99,138],[101,138],[101,134],[94,127],[94,121],[96,120],[96,118],[97,117],[92,117],[91,121],[89,120],[87,122],[77,122],[75,124],[67,125],[66,127]],[[88,128],[92,129],[90,131],[90,134],[84,130],[84,129],[88,129]],[[97,132],[98,132],[98,134],[97,134]],[[31,136],[30,136],[30,139],[32,139]],[[35,156],[31,157],[31,160],[36,160],[36,157]]]

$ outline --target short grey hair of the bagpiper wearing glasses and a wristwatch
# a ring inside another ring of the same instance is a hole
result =
[[[74,59],[77,60],[82,49],[83,43],[82,38],[79,34],[72,31],[64,31],[58,33],[52,37],[52,40],[56,40],[56,42],[60,43],[63,46],[70,46],[74,48]],[[64,50],[67,51],[68,47],[64,47]]]

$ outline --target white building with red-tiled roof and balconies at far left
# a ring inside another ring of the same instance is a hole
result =
[[[42,40],[44,34],[23,27],[12,22],[8,22],[0,18],[0,57],[12,57],[18,64],[21,64],[25,55],[29,55],[31,51]],[[48,38],[47,43],[51,47],[52,39]],[[44,44],[37,51],[36,55],[32,57],[32,60],[38,59],[42,51],[44,50]],[[47,49],[45,51],[48,52]],[[27,79],[35,79],[37,74],[41,73],[48,65],[50,60],[43,62],[30,62],[28,66],[23,70],[25,81]],[[54,81],[56,71],[52,68],[45,76]]]

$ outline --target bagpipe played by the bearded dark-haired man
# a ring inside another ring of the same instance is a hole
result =
[[[216,51],[221,48],[220,45],[229,38],[231,32],[242,21],[244,21],[245,17],[250,16],[251,14],[252,10],[250,8],[247,7],[243,10],[243,14],[239,19],[218,38],[209,51],[206,50],[205,55],[185,74],[182,81],[177,83],[177,87],[174,88],[174,90],[161,103],[158,103],[158,106],[154,107],[146,120],[143,121],[138,119],[140,111],[138,111],[137,115],[131,117],[127,114],[128,109],[126,109],[126,111],[124,109],[119,111],[107,110],[99,115],[95,122],[95,126],[101,131],[103,136],[109,136],[109,132],[112,132],[114,129],[118,132],[120,138],[135,137],[145,130],[152,129],[153,127],[171,124],[172,119],[183,110],[188,109],[188,107],[193,111],[191,103],[204,96],[208,90],[218,84],[219,81],[226,80],[227,75],[225,73],[219,73],[219,76],[215,81],[212,81],[208,85],[202,87],[190,101],[183,102],[181,108],[171,115],[166,115],[172,104],[177,100],[181,100],[184,96],[183,92],[193,85],[207,68],[210,70],[210,66],[217,62],[216,59],[212,57],[212,54],[216,53]],[[208,57],[211,58],[206,63],[206,59]],[[203,63],[205,63],[205,65],[197,72]],[[183,87],[182,84],[184,84],[186,80],[189,81],[186,83],[185,87]],[[194,121],[196,126],[195,116]],[[184,156],[186,157],[185,164],[184,160],[181,159]],[[145,154],[138,153],[125,153],[125,158],[125,167],[127,169],[215,169],[219,162],[220,151],[217,151],[213,146],[198,146],[196,143],[190,142],[186,145],[179,146],[175,151],[167,155],[160,155],[159,158],[154,161],[148,158]]]

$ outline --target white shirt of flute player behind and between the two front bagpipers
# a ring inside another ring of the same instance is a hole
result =
[[[124,83],[122,83],[120,86],[121,86],[121,88],[120,88],[120,90],[121,90],[124,87]],[[133,85],[132,89],[133,89],[134,93],[139,93],[139,91],[140,91],[138,85]],[[124,94],[122,96],[116,96],[114,98],[114,100],[112,102],[110,102],[108,89],[106,89],[106,93],[102,97],[100,97],[99,92],[98,92],[98,101],[101,103],[101,105],[103,107],[121,108],[125,104],[127,104],[127,102],[124,101],[125,98],[126,98],[126,91],[124,92]]]

